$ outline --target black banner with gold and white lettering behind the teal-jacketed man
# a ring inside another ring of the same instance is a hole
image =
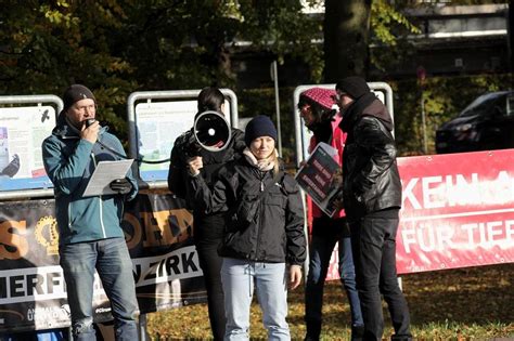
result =
[[[168,194],[139,195],[123,222],[142,314],[206,301],[193,218]],[[69,326],[54,200],[0,202],[0,333]],[[97,278],[95,322],[112,319]]]

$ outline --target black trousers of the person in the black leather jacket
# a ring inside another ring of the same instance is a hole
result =
[[[350,222],[351,247],[357,274],[357,289],[364,318],[364,340],[382,340],[384,316],[382,298],[387,302],[395,335],[391,340],[411,340],[407,301],[396,273],[396,233],[398,210],[394,217],[365,215]]]

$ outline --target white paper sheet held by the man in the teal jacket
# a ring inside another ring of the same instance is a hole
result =
[[[100,161],[97,165],[88,186],[82,197],[116,194],[108,184],[116,179],[124,179],[127,175],[133,159],[118,161]]]

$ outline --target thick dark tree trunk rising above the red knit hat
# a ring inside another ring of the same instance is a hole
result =
[[[325,0],[324,80],[365,77],[372,0]]]

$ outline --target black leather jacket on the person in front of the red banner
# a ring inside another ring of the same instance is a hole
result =
[[[357,219],[401,207],[393,119],[369,93],[348,107],[340,124],[348,133],[343,153],[343,196],[346,214]]]

